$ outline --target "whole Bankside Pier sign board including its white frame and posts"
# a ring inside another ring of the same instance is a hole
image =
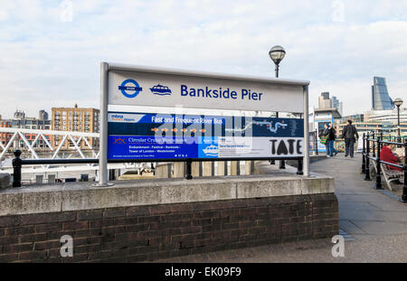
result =
[[[303,157],[308,175],[308,84],[102,62],[99,185],[107,184],[108,161],[126,160],[191,164],[195,159]],[[109,106],[135,108],[109,112]],[[142,109],[136,107],[278,111],[301,113],[304,119],[161,115],[138,113]]]

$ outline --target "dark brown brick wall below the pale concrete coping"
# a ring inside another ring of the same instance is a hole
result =
[[[337,234],[333,193],[0,217],[0,262],[137,262]],[[73,257],[61,258],[62,235]]]

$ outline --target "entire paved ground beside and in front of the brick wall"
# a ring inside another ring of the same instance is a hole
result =
[[[339,228],[345,258],[333,258],[330,239],[243,248],[165,262],[407,262],[407,204],[372,188],[360,174],[361,155],[339,154],[311,164],[311,171],[335,177]],[[390,193],[390,195],[388,194]]]

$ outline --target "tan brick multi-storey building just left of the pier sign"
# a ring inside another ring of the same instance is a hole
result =
[[[75,104],[73,108],[52,108],[52,130],[67,132],[99,133],[99,109],[78,108]],[[52,146],[58,147],[63,136],[52,136]],[[75,139],[77,140],[77,139]],[[99,139],[88,137],[92,147],[99,147]],[[65,141],[62,148],[73,147],[70,139]],[[80,148],[89,148],[85,141],[80,141]]]

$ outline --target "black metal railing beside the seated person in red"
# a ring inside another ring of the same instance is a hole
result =
[[[405,164],[393,164],[383,161],[381,158],[381,150],[383,144],[385,145],[397,145],[398,147],[404,148],[404,156],[407,155],[407,139],[404,138],[404,142],[396,141],[386,141],[383,140],[383,133],[364,133],[363,135],[363,153],[362,153],[362,173],[364,173],[365,181],[372,181],[370,176],[370,161],[374,161],[376,165],[376,178],[375,178],[375,188],[383,189],[382,186],[382,173],[381,164],[390,165],[396,168],[402,169],[403,173],[403,185],[402,185],[402,198],[403,203],[407,203],[407,163]],[[405,158],[404,158],[405,159]]]

